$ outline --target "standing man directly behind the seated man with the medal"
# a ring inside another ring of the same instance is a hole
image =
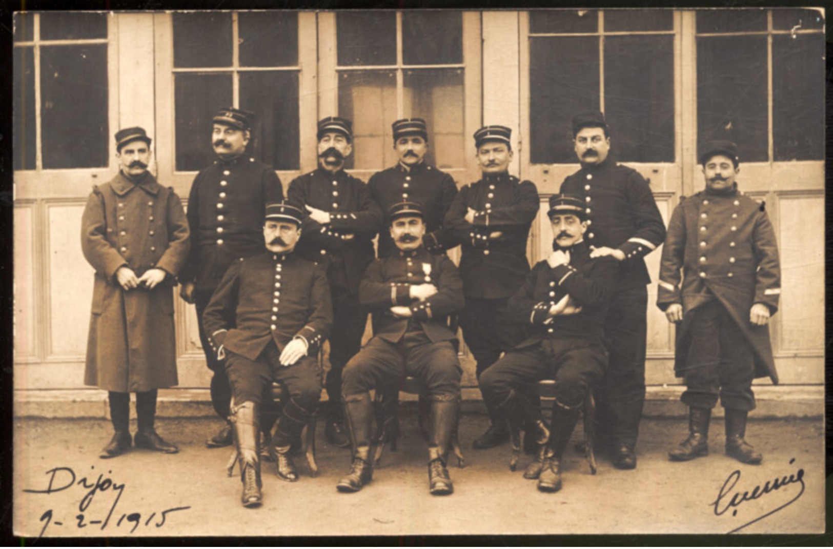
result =
[[[428,151],[428,128],[422,118],[403,118],[393,123],[393,149],[399,155],[399,164],[377,174],[367,182],[367,188],[379,208],[387,212],[393,204],[418,202],[425,215],[425,249],[441,254],[456,246],[442,222],[451,202],[457,194],[457,186],[451,175],[436,169],[424,161]],[[379,232],[379,258],[390,257],[397,252],[391,235]]]

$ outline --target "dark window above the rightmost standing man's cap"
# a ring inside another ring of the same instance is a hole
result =
[[[697,13],[697,133],[741,161],[824,158],[825,35],[811,9]]]

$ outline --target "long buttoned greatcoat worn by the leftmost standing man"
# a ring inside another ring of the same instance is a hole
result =
[[[86,385],[142,392],[177,385],[172,287],[188,256],[182,202],[152,174],[133,184],[121,172],[93,186],[81,227],[84,257],[96,269],[87,340]],[[154,267],[167,278],[153,290],[122,290],[127,265],[141,277]]]

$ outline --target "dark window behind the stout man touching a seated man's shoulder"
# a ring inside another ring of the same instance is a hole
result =
[[[616,159],[674,161],[674,14],[532,10],[530,159],[573,164],[571,119],[601,110]]]

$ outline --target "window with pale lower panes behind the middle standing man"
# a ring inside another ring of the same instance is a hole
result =
[[[391,124],[425,118],[426,159],[464,164],[462,13],[337,13],[338,113],[355,133],[348,168],[394,164]]]

